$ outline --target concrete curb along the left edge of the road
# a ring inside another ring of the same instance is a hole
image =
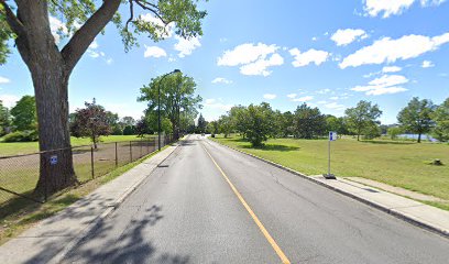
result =
[[[162,160],[162,162],[160,162],[157,165],[162,164],[165,160],[167,160],[178,147],[179,145],[176,144],[176,147],[172,151],[172,153],[169,153],[164,160]],[[161,151],[162,152],[162,151]],[[151,157],[150,157],[151,158]],[[138,164],[139,165],[139,164]],[[57,264],[57,263],[62,263],[64,257],[70,253],[70,251],[78,244],[80,243],[83,240],[85,240],[86,238],[89,237],[89,232],[97,229],[100,223],[103,221],[103,219],[106,219],[107,217],[109,217],[109,215],[111,215],[132,193],[134,193],[135,189],[139,188],[140,185],[142,185],[142,183],[154,172],[154,169],[157,168],[154,167],[151,172],[149,172],[147,175],[145,175],[144,177],[141,177],[139,179],[139,182],[136,182],[134,185],[132,185],[131,187],[129,187],[114,202],[112,206],[108,207],[99,217],[97,217],[96,219],[94,219],[81,232],[80,234],[72,240],[66,246],[64,246],[64,249],[56,254],[48,263],[51,264]],[[119,176],[121,177],[121,176]]]

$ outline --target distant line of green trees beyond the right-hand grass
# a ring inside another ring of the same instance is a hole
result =
[[[390,134],[396,139],[402,133],[421,135],[431,133],[438,141],[449,141],[449,98],[440,106],[428,99],[413,98],[397,114],[397,124],[381,125],[382,110],[377,105],[361,100],[344,111],[344,117],[324,114],[317,107],[303,103],[294,112],[273,110],[270,103],[234,106],[217,121],[206,122],[208,133],[227,138],[239,133],[253,146],[261,146],[269,138],[317,139],[329,131],[340,135],[354,135],[357,140],[374,139]],[[198,122],[199,124],[199,122]]]

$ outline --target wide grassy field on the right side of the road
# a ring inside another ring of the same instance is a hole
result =
[[[239,136],[216,141],[307,175],[327,173],[327,140],[269,140],[252,148]],[[357,176],[449,200],[449,145],[392,141],[338,140],[331,143],[331,173]],[[439,158],[443,166],[429,165]],[[449,210],[449,205],[436,205]]]

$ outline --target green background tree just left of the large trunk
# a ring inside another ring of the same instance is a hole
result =
[[[12,125],[17,131],[35,130],[37,128],[36,101],[33,96],[23,96],[11,108]]]

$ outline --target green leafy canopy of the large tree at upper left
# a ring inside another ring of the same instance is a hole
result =
[[[206,0],[207,1],[207,0]],[[201,20],[207,12],[198,10],[198,0],[121,0],[111,22],[117,26],[125,51],[139,45],[138,35],[146,35],[157,42],[175,34],[190,38],[202,35]],[[62,38],[70,37],[100,9],[113,4],[112,0],[52,0],[47,2],[48,14],[64,21],[57,29]],[[7,22],[7,8],[15,6],[0,1],[0,65],[10,54],[8,40],[15,34]],[[125,15],[125,20],[123,20]]]

